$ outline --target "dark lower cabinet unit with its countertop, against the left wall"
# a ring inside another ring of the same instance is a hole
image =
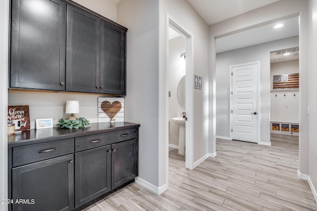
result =
[[[139,124],[31,129],[8,136],[9,211],[71,211],[138,176]]]

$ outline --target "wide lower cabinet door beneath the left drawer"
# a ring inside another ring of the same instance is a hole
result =
[[[74,209],[73,155],[12,169],[13,211],[68,211]],[[34,201],[32,201],[34,200]]]

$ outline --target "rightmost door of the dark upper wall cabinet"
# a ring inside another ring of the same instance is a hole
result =
[[[101,93],[125,95],[126,32],[101,21]]]

